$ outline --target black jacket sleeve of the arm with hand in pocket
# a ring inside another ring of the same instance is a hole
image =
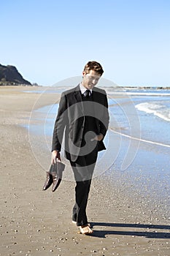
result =
[[[107,94],[104,95],[104,114],[102,121],[100,121],[100,132],[102,135],[106,135],[107,129],[109,127],[109,112],[108,112],[108,101],[107,101]]]

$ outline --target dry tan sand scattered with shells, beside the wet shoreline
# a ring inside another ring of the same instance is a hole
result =
[[[0,255],[169,256],[169,217],[161,206],[131,195],[123,183],[111,184],[108,176],[93,179],[88,201],[93,236],[80,234],[72,224],[74,182],[63,180],[54,193],[42,191],[45,170],[21,126],[28,124],[39,98],[24,91],[36,89],[0,86]],[[39,108],[53,103],[56,95],[43,97]]]

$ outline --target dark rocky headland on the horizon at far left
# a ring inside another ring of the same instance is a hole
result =
[[[33,86],[15,66],[0,64],[0,86]]]

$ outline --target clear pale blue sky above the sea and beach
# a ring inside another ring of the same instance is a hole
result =
[[[169,0],[0,0],[0,63],[51,86],[89,60],[119,86],[170,86]]]

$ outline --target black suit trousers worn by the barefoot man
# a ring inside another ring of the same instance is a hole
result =
[[[93,151],[86,156],[78,157],[76,162],[70,161],[77,183],[75,187],[75,205],[72,212],[72,220],[77,222],[77,226],[88,224],[86,206],[96,159],[97,151]]]

